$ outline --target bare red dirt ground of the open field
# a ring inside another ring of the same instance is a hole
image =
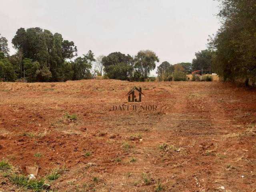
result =
[[[136,105],[157,110],[112,110],[134,104],[134,86]],[[37,165],[39,177],[64,168],[50,183],[59,192],[151,192],[157,181],[171,192],[255,192],[255,123],[255,90],[220,82],[0,82],[0,159],[24,174]],[[23,191],[0,180],[2,192]]]

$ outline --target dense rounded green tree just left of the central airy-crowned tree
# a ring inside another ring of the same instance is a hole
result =
[[[102,58],[102,65],[106,76],[113,79],[128,80],[132,76],[132,60],[128,54],[113,52]]]

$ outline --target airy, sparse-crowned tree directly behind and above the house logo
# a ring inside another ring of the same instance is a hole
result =
[[[144,79],[148,77],[151,70],[156,68],[156,62],[159,62],[158,56],[151,50],[139,51],[134,60],[134,68]]]

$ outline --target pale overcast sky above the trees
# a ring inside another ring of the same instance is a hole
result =
[[[78,56],[152,50],[160,62],[192,62],[220,23],[214,0],[0,0],[0,34],[40,27],[74,41]],[[154,70],[152,74],[155,74]]]

